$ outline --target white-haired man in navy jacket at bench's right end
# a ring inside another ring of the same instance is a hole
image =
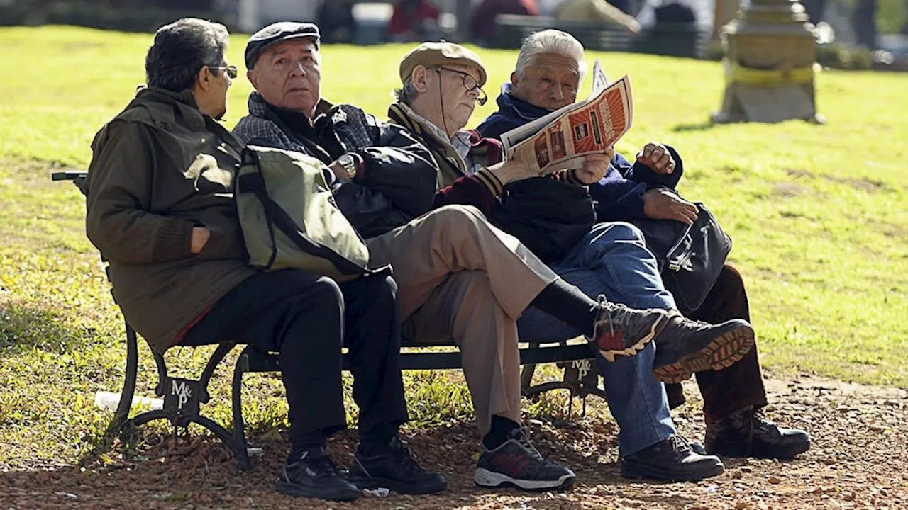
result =
[[[531,34],[520,47],[510,83],[505,83],[498,96],[498,112],[479,125],[479,132],[499,138],[503,132],[573,103],[585,71],[583,57],[583,46],[570,34],[558,30]],[[696,206],[672,192],[683,172],[680,155],[661,143],[646,143],[637,153],[636,162],[615,154],[605,178],[589,188],[597,201],[597,220],[650,218],[690,224],[696,220]],[[643,242],[638,230],[627,231],[633,235],[625,242]],[[620,264],[616,259],[606,267],[620,268]],[[627,271],[617,274],[624,274],[625,278],[639,276]],[[621,289],[623,297],[609,298],[627,306],[644,306],[631,291],[633,287],[621,286]],[[663,308],[673,308],[671,303],[671,296],[667,296]],[[740,273],[726,265],[703,304],[688,316],[710,323],[735,318],[749,321],[750,310]],[[540,323],[533,324],[532,330],[541,330]],[[790,458],[810,447],[807,433],[778,427],[759,412],[767,401],[756,348],[727,368],[697,372],[696,381],[704,399],[705,443],[709,453]],[[684,401],[680,385],[669,385],[666,389],[672,407]]]

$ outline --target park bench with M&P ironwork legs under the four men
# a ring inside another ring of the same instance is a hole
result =
[[[80,191],[84,192],[85,172],[54,172],[54,181],[73,181]],[[110,280],[109,267],[104,266],[108,281]],[[113,294],[113,292],[112,292]],[[136,378],[139,367],[138,336],[135,330],[124,320],[126,331],[126,368],[123,378],[123,390],[120,401],[114,412],[114,418],[108,425],[105,435],[114,436],[127,425],[141,426],[155,419],[167,419],[173,427],[188,427],[196,423],[207,428],[217,436],[224,446],[227,446],[236,456],[237,463],[242,470],[251,468],[249,460],[249,446],[245,436],[245,424],[242,418],[242,378],[243,375],[257,372],[279,371],[280,366],[276,354],[258,352],[248,346],[243,346],[239,358],[233,367],[232,379],[232,430],[228,430],[211,418],[202,416],[201,405],[211,399],[208,384],[211,381],[214,369],[223,358],[236,347],[236,341],[225,341],[217,345],[211,358],[208,359],[202,376],[198,380],[173,378],[167,372],[167,365],[163,355],[154,353],[154,363],[157,368],[158,381],[154,393],[163,397],[163,408],[144,411],[132,418],[129,417],[133,405]],[[403,347],[400,354],[400,368],[403,370],[439,370],[461,368],[460,353],[450,348],[456,347],[453,340],[447,342],[433,342],[426,344],[419,340],[403,338]],[[444,348],[439,351],[439,348]],[[568,389],[571,397],[583,399],[584,412],[586,411],[586,397],[597,395],[605,398],[605,392],[598,387],[598,372],[595,363],[592,363],[593,351],[586,342],[569,345],[568,342],[552,342],[552,344],[528,344],[520,348],[520,365],[523,366],[520,383],[521,391],[525,397],[536,399],[542,393],[553,389]],[[558,363],[563,368],[564,375],[561,380],[550,380],[538,385],[532,385],[533,373],[536,365],[543,363]],[[349,358],[344,356],[344,369],[349,369]],[[570,404],[573,403],[573,398]],[[570,405],[569,404],[569,405]],[[570,413],[570,410],[568,410]]]

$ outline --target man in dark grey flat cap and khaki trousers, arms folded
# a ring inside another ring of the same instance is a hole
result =
[[[315,25],[265,27],[252,35],[245,56],[256,90],[249,98],[250,114],[234,133],[244,142],[321,159],[337,179],[338,206],[367,240],[370,265],[394,269],[405,336],[422,345],[453,338],[459,346],[483,435],[477,483],[524,489],[571,485],[574,473],[540,456],[520,427],[517,318],[533,305],[583,331],[607,358],[633,356],[653,341],[672,341],[676,335],[663,331],[674,331],[674,323],[661,310],[588,298],[475,207],[437,208],[442,177],[423,144],[403,127],[382,123],[354,105],[321,99]],[[439,73],[455,76],[461,89],[469,79],[454,71]],[[473,101],[475,87],[469,94]],[[460,110],[469,117],[471,107]],[[464,185],[509,181],[525,173],[520,162],[499,162]],[[666,347],[667,356],[654,366],[675,370],[679,360],[697,358],[712,339]],[[373,467],[366,452],[357,451],[356,459],[350,477],[357,485],[380,486],[379,478],[397,475],[393,464]]]

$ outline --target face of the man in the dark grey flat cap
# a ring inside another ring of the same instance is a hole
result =
[[[321,99],[321,54],[311,39],[271,46],[247,76],[265,101],[310,118]]]

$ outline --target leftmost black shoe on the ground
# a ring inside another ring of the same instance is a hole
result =
[[[277,490],[281,494],[315,497],[332,501],[353,501],[360,489],[350,484],[325,453],[324,448],[306,450],[281,468]]]

